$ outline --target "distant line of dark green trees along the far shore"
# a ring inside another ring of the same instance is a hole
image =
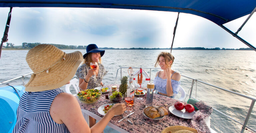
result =
[[[31,49],[41,43],[22,43],[22,46],[14,46],[13,43],[6,43],[3,46],[4,49]],[[75,46],[75,45],[62,45],[62,44],[51,44],[59,49],[85,49],[87,46]],[[170,50],[171,48],[99,48],[104,50]],[[173,50],[252,50],[251,48],[240,48],[240,49],[225,49],[225,48],[204,48],[204,47],[185,47],[185,48],[172,48]]]

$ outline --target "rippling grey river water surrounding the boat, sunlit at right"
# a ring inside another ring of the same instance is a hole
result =
[[[63,50],[71,53],[76,50]],[[80,50],[83,54],[86,50]],[[108,70],[103,79],[106,84],[115,82],[119,67],[154,67],[157,55],[161,51],[169,50],[106,50],[102,57],[102,64]],[[0,81],[18,77],[32,70],[26,63],[27,50],[2,51],[0,60]],[[255,51],[196,51],[173,50],[175,57],[172,69],[198,80],[226,88],[228,90],[255,98],[256,95],[256,52]],[[149,73],[149,69],[145,69]],[[159,69],[152,69],[151,81]],[[136,71],[136,69],[134,69]],[[122,75],[128,75],[127,69]],[[25,77],[27,82],[29,76]],[[120,71],[117,75],[120,80]],[[13,85],[22,85],[22,80],[16,80]],[[120,81],[117,81],[120,84]],[[181,85],[188,93],[192,80],[181,78]],[[0,85],[0,87],[3,85]],[[63,88],[63,87],[62,87]],[[195,83],[192,96],[203,100],[212,107],[230,115],[234,119],[244,122],[251,100],[238,95],[229,94],[223,90]],[[186,98],[188,100],[188,98]],[[217,132],[240,132],[242,125],[229,121],[227,117],[217,111],[211,115],[211,128]],[[256,105],[250,116],[248,125],[256,129]],[[248,132],[248,131],[245,131]]]

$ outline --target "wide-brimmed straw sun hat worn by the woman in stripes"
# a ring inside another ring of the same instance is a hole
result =
[[[37,92],[68,83],[83,56],[79,51],[66,54],[53,45],[40,44],[28,51],[26,61],[34,73],[25,85],[25,91]]]

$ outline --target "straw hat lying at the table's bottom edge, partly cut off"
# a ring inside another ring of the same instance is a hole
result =
[[[197,130],[184,126],[170,126],[165,128],[161,133],[197,133]]]

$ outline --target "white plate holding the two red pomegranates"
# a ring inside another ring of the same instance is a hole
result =
[[[177,110],[174,106],[169,107],[169,111],[172,114],[185,119],[192,119],[193,115],[196,113],[196,111],[193,111],[191,113],[186,112],[185,108],[183,108],[182,110]]]

